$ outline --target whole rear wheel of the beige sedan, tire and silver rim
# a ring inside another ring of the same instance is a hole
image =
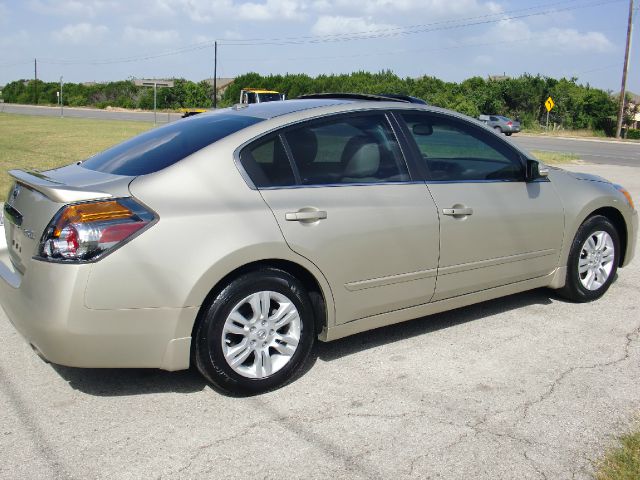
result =
[[[198,370],[232,394],[280,387],[303,367],[315,340],[302,284],[266,268],[232,281],[210,303],[195,335]]]

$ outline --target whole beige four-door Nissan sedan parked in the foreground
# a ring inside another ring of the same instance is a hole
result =
[[[638,228],[623,187],[374,96],[236,106],[10,175],[0,301],[36,352],[194,365],[235,394],[294,378],[316,340],[539,287],[595,300]]]

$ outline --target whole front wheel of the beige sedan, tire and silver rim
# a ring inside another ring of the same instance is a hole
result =
[[[609,219],[588,218],[573,240],[566,283],[558,293],[574,302],[600,298],[616,275],[619,252],[620,238]]]

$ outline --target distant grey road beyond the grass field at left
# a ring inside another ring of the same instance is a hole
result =
[[[56,107],[36,107],[32,105],[14,105],[10,103],[0,103],[0,112],[18,113],[21,115],[38,115],[46,117],[59,117],[60,108]],[[138,122],[153,122],[153,112],[133,112],[133,111],[109,111],[95,108],[64,108],[65,117],[73,118],[96,118],[100,120],[133,120]],[[167,123],[181,118],[178,113],[157,113],[157,123]]]

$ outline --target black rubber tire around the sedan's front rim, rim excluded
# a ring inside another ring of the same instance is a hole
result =
[[[581,257],[584,259],[585,253],[583,252],[583,245],[589,237],[593,236],[597,232],[606,232],[613,243],[613,263],[611,272],[609,273],[606,281],[597,288],[588,289],[583,285],[581,280],[581,274],[579,273],[578,264]],[[574,302],[590,302],[600,298],[609,289],[613,282],[616,272],[618,270],[618,263],[620,261],[620,237],[618,231],[609,221],[608,218],[596,215],[588,218],[580,225],[576,233],[573,243],[571,244],[571,250],[569,252],[569,261],[567,262],[567,279],[565,286],[557,290],[557,292]]]

